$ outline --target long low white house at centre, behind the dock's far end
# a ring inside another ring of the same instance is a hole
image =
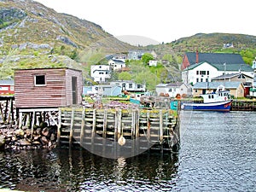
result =
[[[122,90],[127,90],[128,92],[145,92],[145,84],[137,84],[132,80],[117,80],[112,81],[110,84],[119,85],[122,87]]]

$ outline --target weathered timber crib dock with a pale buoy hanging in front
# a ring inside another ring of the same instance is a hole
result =
[[[100,154],[138,154],[148,149],[177,152],[179,147],[179,120],[169,109],[59,110],[59,146],[79,144]]]

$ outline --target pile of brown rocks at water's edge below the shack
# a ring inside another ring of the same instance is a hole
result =
[[[55,148],[57,126],[34,126],[19,128],[16,125],[0,125],[0,149]]]

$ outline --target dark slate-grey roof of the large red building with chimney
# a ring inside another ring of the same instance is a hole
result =
[[[196,63],[196,53],[186,52],[190,65]],[[239,54],[229,53],[198,53],[198,62],[207,61],[212,64],[245,64]]]

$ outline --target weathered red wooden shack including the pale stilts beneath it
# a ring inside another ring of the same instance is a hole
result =
[[[52,115],[59,108],[82,104],[82,72],[67,67],[15,70],[15,107],[19,126],[48,121],[57,125]]]

